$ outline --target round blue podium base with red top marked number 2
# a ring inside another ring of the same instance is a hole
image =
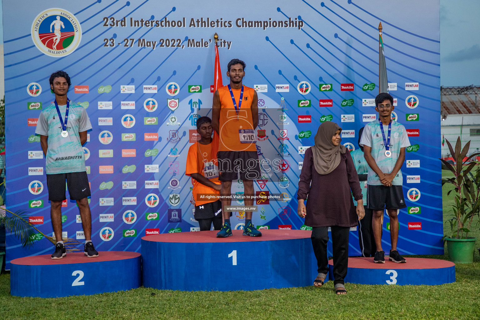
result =
[[[95,295],[142,285],[138,252],[101,251],[97,258],[67,253],[59,260],[41,255],[14,259],[10,265],[12,296]]]

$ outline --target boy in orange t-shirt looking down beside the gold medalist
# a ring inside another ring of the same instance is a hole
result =
[[[195,200],[195,220],[200,225],[200,231],[220,230],[222,227],[222,202],[218,200],[221,185],[218,181],[218,135],[212,138],[212,120],[201,117],[197,120],[197,132],[202,137],[188,149],[185,174],[195,180],[193,184],[193,199]],[[208,195],[207,199],[201,199]]]

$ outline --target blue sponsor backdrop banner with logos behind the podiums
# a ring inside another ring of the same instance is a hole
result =
[[[392,15],[391,12],[396,12]],[[52,235],[50,206],[35,126],[54,99],[48,78],[64,70],[68,97],[93,129],[84,145],[91,183],[92,239],[103,250],[140,250],[145,234],[198,230],[187,151],[199,139],[196,120],[211,116],[214,34],[224,84],[227,63],[246,62],[244,84],[258,93],[254,134],[260,159],[272,164],[255,191],[284,193],[259,204],[262,228],[305,228],[296,213],[305,149],[318,126],[335,121],[342,143],[358,148],[358,130],[377,119],[378,30],[395,120],[411,147],[402,166],[408,209],[400,210],[398,250],[441,254],[439,2],[417,1],[3,1],[8,209],[25,210]],[[18,17],[23,24],[18,24]],[[388,17],[388,21],[384,21]],[[11,26],[15,27],[11,27]],[[276,162],[274,162],[276,160]],[[241,180],[232,183],[242,193]],[[84,240],[75,202],[62,207],[64,237]],[[233,201],[240,205],[243,201]],[[232,227],[241,229],[244,213]],[[390,236],[385,216],[385,251]],[[30,249],[7,235],[7,261],[49,254],[40,234]],[[357,231],[350,255],[360,255]]]

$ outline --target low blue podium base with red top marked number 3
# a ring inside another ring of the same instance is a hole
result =
[[[373,263],[373,258],[348,258],[345,282],[353,284],[436,285],[455,282],[455,263],[438,259],[406,258],[407,263]],[[333,260],[328,261],[333,279]]]

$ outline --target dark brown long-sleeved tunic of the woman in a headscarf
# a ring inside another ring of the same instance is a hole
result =
[[[307,195],[309,196],[305,225],[357,225],[358,217],[352,193],[356,201],[362,199],[359,178],[348,149],[345,154],[341,154],[340,164],[335,170],[326,175],[315,170],[312,148],[305,151],[297,192],[297,199],[306,200]]]

